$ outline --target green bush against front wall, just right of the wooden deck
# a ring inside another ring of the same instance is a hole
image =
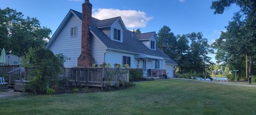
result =
[[[129,69],[129,80],[137,81],[143,77],[142,69]]]

